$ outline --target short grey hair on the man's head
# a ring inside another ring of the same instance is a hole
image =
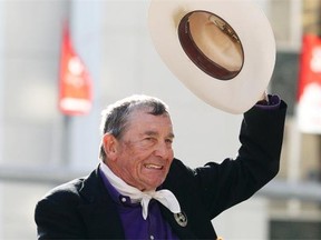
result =
[[[134,94],[116,101],[101,111],[101,137],[110,133],[116,139],[121,139],[127,129],[130,114],[137,110],[146,110],[147,113],[154,116],[169,114],[168,106],[160,99],[145,94]],[[100,143],[99,158],[101,160],[106,158],[103,141]]]

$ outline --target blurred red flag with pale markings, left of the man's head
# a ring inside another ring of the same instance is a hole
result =
[[[86,114],[91,109],[91,79],[72,47],[67,24],[61,44],[59,109],[70,116]]]

